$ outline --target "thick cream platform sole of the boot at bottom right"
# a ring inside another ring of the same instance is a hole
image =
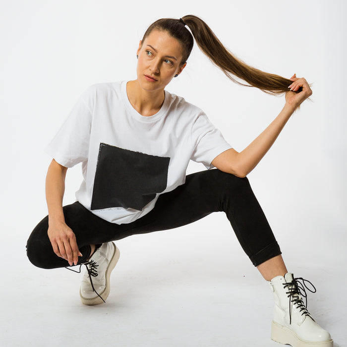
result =
[[[293,331],[274,321],[271,323],[271,340],[292,347],[333,347],[333,340],[319,342],[305,341],[300,339]]]

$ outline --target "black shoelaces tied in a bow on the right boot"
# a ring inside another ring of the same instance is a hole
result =
[[[293,275],[293,277],[294,277],[294,275]],[[301,280],[302,283],[298,282],[299,280]],[[305,285],[305,282],[308,282],[313,287],[314,291],[309,289]],[[313,284],[308,280],[304,280],[302,277],[297,277],[297,278],[294,278],[292,282],[285,282],[285,283],[283,283],[283,285],[285,288],[287,287],[289,289],[289,291],[286,291],[286,294],[289,294],[288,295],[288,297],[289,297],[289,324],[291,324],[291,308],[290,308],[291,304],[290,304],[290,302],[293,302],[294,305],[296,305],[296,307],[300,309],[301,315],[309,316],[312,318],[312,316],[307,311],[307,293],[306,293],[306,290],[304,287],[306,287],[306,289],[308,289],[310,292],[315,293],[317,290],[313,286]],[[295,294],[297,294],[297,295],[294,296]],[[300,299],[299,295],[301,295],[305,298],[305,300],[306,300],[305,304],[302,302],[302,299]]]

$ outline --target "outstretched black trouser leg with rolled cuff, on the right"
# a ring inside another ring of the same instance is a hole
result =
[[[184,184],[160,195],[154,209],[130,224],[121,237],[181,227],[218,211],[226,213],[241,247],[255,266],[281,254],[248,178],[218,169],[187,175]]]

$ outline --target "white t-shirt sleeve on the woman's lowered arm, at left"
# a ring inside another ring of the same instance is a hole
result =
[[[92,123],[93,88],[88,87],[79,97],[57,134],[44,151],[60,165],[71,168],[88,160]]]

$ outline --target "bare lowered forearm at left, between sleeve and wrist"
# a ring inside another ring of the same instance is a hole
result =
[[[51,163],[46,176],[46,200],[49,222],[64,222],[62,199],[65,191],[65,174],[57,163]]]

